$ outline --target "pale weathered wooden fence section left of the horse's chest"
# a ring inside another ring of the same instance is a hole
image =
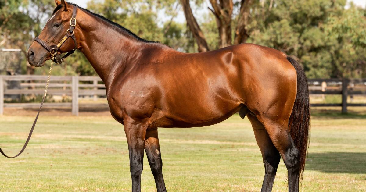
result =
[[[47,76],[44,75],[0,75],[0,115],[4,107],[32,108],[40,103],[4,103],[4,95],[42,95]],[[18,82],[17,87],[8,87],[9,82]],[[71,103],[44,103],[45,107],[70,107],[72,114],[79,113],[79,96],[105,96],[105,86],[98,76],[51,76],[49,95],[71,96]]]

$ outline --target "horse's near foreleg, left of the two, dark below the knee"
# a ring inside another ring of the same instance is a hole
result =
[[[141,192],[141,173],[143,169],[143,150],[147,126],[143,124],[124,124],[130,155],[132,192]]]

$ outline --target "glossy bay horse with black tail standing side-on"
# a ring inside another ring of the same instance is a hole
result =
[[[265,167],[262,191],[272,190],[281,157],[288,190],[299,190],[310,110],[306,76],[294,59],[255,44],[181,53],[75,4],[55,3],[43,40],[28,50],[29,64],[41,67],[74,48],[86,56],[105,84],[113,118],[124,125],[133,192],[141,191],[144,150],[157,191],[166,191],[158,127],[208,126],[234,113],[252,124]]]

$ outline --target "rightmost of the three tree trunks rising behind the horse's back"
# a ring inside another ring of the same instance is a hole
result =
[[[234,44],[245,43],[249,37],[247,25],[249,22],[250,6],[253,0],[242,0],[238,18],[238,26],[235,30]]]

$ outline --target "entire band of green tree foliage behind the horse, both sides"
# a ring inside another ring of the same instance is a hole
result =
[[[192,8],[206,9],[203,2],[192,1]],[[270,0],[255,0],[247,26],[250,35],[247,42],[297,57],[309,78],[365,78],[366,10],[354,5],[346,9],[345,5],[346,0],[276,0],[271,7]],[[54,6],[51,0],[0,1],[0,48],[21,48],[25,54]],[[185,23],[173,20],[182,8],[177,0],[89,1],[87,8],[141,38],[160,41],[182,52],[197,50]],[[239,10],[240,1],[236,0],[232,29],[236,28]],[[161,24],[158,12],[164,12],[172,19]],[[217,49],[219,39],[213,14],[195,16],[210,49]],[[26,71],[26,62],[22,65]],[[36,69],[35,74],[46,74],[47,70]],[[68,57],[60,67],[55,67],[53,74],[96,75],[80,52]]]

